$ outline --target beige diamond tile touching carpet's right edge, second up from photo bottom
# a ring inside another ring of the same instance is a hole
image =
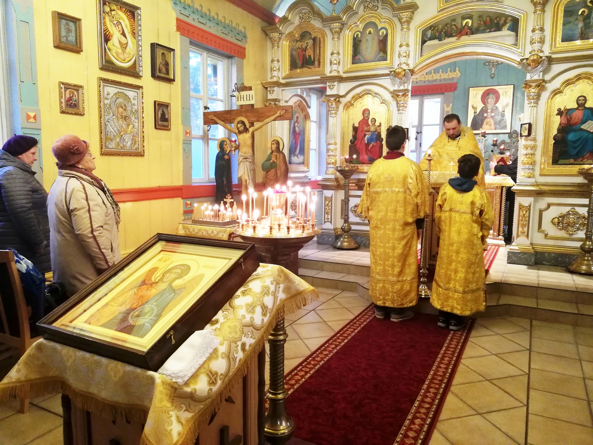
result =
[[[490,382],[460,384],[451,387],[451,392],[480,414],[517,408],[522,403]]]

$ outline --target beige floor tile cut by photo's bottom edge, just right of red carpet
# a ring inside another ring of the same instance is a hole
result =
[[[439,432],[452,445],[515,445],[516,442],[481,415],[461,417],[438,423]]]

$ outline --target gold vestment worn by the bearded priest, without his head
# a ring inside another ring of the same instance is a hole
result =
[[[451,177],[457,176],[457,160],[464,154],[474,154],[480,158],[480,173],[476,178],[478,185],[486,190],[486,182],[484,182],[484,157],[476,136],[470,127],[461,127],[461,136],[458,141],[451,141],[447,136],[447,132],[442,132],[438,138],[432,142],[431,150],[431,183],[435,182],[432,178],[432,172],[448,171],[452,173]],[[428,170],[428,150],[420,161],[422,170]]]

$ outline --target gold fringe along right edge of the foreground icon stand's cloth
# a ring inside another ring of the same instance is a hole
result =
[[[319,294],[317,290],[310,286],[307,289],[304,289],[292,295],[291,297],[286,298],[282,304],[279,304],[273,309],[266,328],[247,350],[246,354],[241,359],[241,364],[239,364],[235,370],[232,371],[231,375],[227,379],[227,383],[224,386],[219,387],[219,389],[213,393],[209,403],[203,406],[202,411],[200,411],[199,414],[193,418],[193,422],[189,424],[189,427],[187,427],[186,431],[180,434],[180,439],[176,441],[175,445],[194,445],[196,443],[200,426],[208,422],[212,417],[212,414],[218,412],[222,402],[224,402],[224,400],[231,393],[232,388],[243,381],[243,377],[246,376],[248,368],[253,361],[254,355],[259,354],[259,352],[262,350],[264,344],[267,341],[267,337],[270,335],[272,330],[274,330],[276,323],[278,323],[278,321],[284,318],[286,315],[292,314],[299,309],[302,309],[302,307],[317,301],[318,299]],[[146,437],[146,434],[143,431],[140,445],[162,445],[162,443],[153,442],[148,437]]]

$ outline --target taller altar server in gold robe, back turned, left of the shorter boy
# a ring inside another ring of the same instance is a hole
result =
[[[366,176],[358,211],[369,220],[371,284],[375,316],[407,320],[406,307],[418,301],[417,240],[428,213],[428,183],[420,166],[404,156],[406,131],[394,126],[385,135],[387,154]]]

